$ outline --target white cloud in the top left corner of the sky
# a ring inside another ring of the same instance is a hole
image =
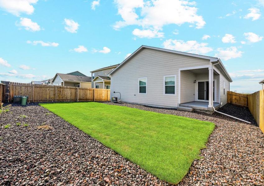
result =
[[[21,13],[32,14],[34,7],[31,4],[38,0],[0,0],[0,7],[4,10],[19,16]]]

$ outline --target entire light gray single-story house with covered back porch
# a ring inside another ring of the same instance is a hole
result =
[[[113,92],[120,92],[123,102],[207,113],[227,103],[232,82],[219,58],[148,46],[138,48],[109,75],[111,96],[119,98]]]

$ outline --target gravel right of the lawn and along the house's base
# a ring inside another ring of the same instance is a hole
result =
[[[226,104],[219,111],[252,124],[220,113],[210,115],[137,104],[117,105],[215,123],[215,130],[210,135],[206,148],[201,150],[201,159],[192,163],[179,185],[264,185],[264,134],[248,108]]]

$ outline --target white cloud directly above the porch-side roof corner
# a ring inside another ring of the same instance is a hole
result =
[[[222,60],[230,60],[238,57],[242,57],[242,51],[239,51],[237,47],[229,47],[225,50],[222,48],[217,49],[218,53],[215,54],[215,57],[218,57]]]

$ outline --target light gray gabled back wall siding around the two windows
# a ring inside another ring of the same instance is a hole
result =
[[[201,58],[144,48],[111,75],[111,96],[119,97],[113,93],[117,91],[125,102],[177,107],[179,68],[209,64]],[[165,75],[176,75],[176,95],[164,95]],[[138,78],[142,77],[147,77],[147,94],[138,93]]]

